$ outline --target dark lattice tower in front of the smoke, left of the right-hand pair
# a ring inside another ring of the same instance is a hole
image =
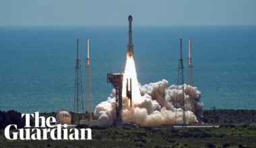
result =
[[[183,124],[186,124],[185,119],[185,96],[184,96],[184,73],[183,73],[183,59],[182,59],[182,38],[180,39],[180,59],[179,59],[179,67],[178,67],[178,79],[177,79],[177,100],[178,101],[178,91],[179,91],[179,85],[181,85],[182,90],[182,108],[183,108]],[[177,107],[176,107],[176,115],[175,115],[175,124],[177,120]]]

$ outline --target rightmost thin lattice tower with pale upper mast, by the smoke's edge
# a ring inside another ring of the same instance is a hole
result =
[[[193,86],[193,64],[192,64],[192,57],[191,57],[191,38],[189,38],[189,62],[187,63],[187,83]],[[195,114],[195,102],[194,98],[191,100],[192,104],[192,112]],[[190,116],[192,118],[192,114]],[[193,120],[194,122],[194,120]]]

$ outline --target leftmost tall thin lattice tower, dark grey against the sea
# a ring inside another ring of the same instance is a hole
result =
[[[75,96],[73,110],[75,113],[84,112],[84,101],[82,100],[82,73],[81,61],[79,59],[79,39],[77,39],[77,59],[75,63]]]

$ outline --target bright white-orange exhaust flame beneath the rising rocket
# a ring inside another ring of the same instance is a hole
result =
[[[131,84],[129,81],[128,85],[132,86],[131,87],[132,104],[137,104],[141,100],[141,94],[139,92],[139,83],[137,80],[137,73],[136,73],[133,57],[128,57],[128,56],[127,56],[126,65],[125,65],[125,73],[123,75],[123,89],[122,89],[123,98],[127,97],[127,94],[126,94],[127,79],[131,79]]]

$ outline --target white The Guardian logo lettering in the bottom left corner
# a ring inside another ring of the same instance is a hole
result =
[[[24,116],[26,120],[24,128],[17,129],[15,124],[5,127],[5,137],[7,139],[47,140],[50,137],[53,140],[92,140],[92,130],[90,128],[67,128],[67,124],[56,124],[56,119],[53,116],[44,118],[44,116],[39,116],[39,112],[22,114],[22,117]],[[33,127],[30,125],[30,117],[35,120]],[[11,130],[12,126],[15,130]]]

